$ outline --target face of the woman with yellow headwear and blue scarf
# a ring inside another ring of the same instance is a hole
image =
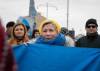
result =
[[[57,35],[56,27],[53,24],[44,25],[42,28],[42,36],[46,39],[53,39]]]

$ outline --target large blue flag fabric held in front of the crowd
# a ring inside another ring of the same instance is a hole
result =
[[[22,44],[13,48],[18,71],[100,71],[100,49]]]

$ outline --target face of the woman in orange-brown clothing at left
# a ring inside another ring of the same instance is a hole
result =
[[[15,27],[14,34],[15,36],[24,36],[25,29],[22,25],[18,25]]]

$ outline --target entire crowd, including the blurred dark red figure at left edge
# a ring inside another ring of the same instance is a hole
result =
[[[76,41],[69,35],[68,29],[61,27],[55,20],[47,19],[43,21],[37,29],[33,29],[31,38],[28,35],[29,30],[30,27],[27,27],[22,22],[15,23],[14,21],[10,21],[6,24],[5,32],[0,20],[0,71],[16,70],[11,47],[24,43],[65,47],[100,48],[98,23],[97,20],[93,18],[86,21],[86,36],[82,36]],[[3,53],[6,55],[3,55]],[[3,59],[5,59],[6,62]]]

